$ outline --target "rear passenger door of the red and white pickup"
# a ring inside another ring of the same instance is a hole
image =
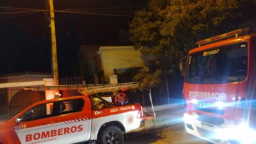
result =
[[[91,136],[91,103],[85,99],[58,101],[60,115],[56,119],[58,143],[89,141]]]

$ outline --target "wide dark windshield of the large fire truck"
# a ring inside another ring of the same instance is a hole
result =
[[[243,81],[247,77],[247,43],[221,46],[188,56],[186,82],[220,84]]]

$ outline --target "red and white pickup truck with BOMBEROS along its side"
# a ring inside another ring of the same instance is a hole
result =
[[[114,106],[93,96],[39,101],[0,123],[0,143],[123,143],[123,135],[139,128],[139,104]]]

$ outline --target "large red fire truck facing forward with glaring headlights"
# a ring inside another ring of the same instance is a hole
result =
[[[186,60],[188,134],[211,143],[256,142],[256,35],[238,29],[199,41]]]

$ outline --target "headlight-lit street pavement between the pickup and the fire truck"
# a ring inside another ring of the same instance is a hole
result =
[[[146,121],[141,132],[128,134],[125,144],[207,144],[206,141],[186,134],[183,123],[183,105],[173,105],[169,109],[156,111],[156,121]],[[153,115],[152,112],[149,113]]]

